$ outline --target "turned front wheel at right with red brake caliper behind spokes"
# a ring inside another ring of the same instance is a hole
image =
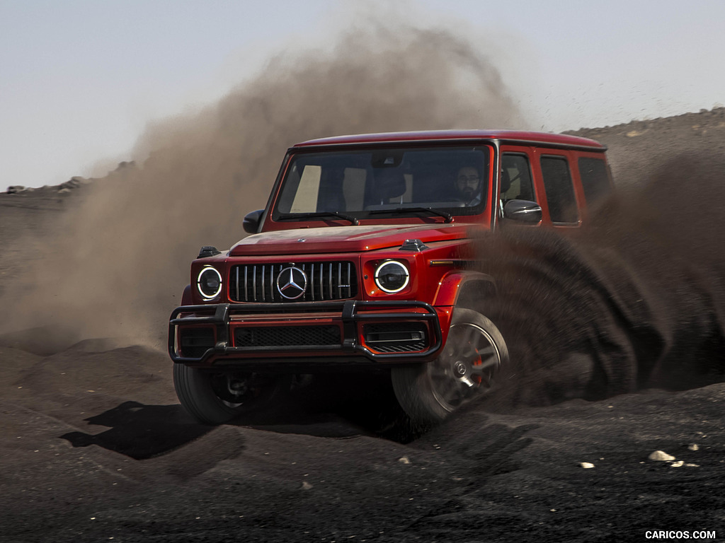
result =
[[[442,353],[426,364],[393,368],[393,389],[414,424],[435,426],[488,390],[507,363],[508,348],[492,321],[456,308]]]

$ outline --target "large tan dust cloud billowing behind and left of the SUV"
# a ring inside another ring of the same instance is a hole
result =
[[[288,146],[345,133],[525,128],[496,67],[446,28],[366,20],[326,51],[280,54],[221,99],[148,128],[133,161],[84,188],[43,239],[0,332],[63,324],[160,346],[202,245],[265,206]],[[19,294],[20,293],[20,294]]]

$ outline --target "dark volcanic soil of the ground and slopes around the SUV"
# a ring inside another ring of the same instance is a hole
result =
[[[722,153],[724,122],[718,109],[578,133],[608,143],[616,179],[631,185],[673,156]],[[43,232],[83,190],[0,194],[0,290],[39,258],[15,240]],[[721,200],[700,199],[722,214]],[[718,236],[703,238],[708,254],[721,251]],[[690,263],[705,258],[702,244],[687,247]],[[647,292],[665,292],[672,276],[661,277]],[[199,426],[178,405],[165,353],[74,334],[0,336],[2,542],[725,539],[725,383],[544,407],[493,394],[401,444],[344,394],[254,424]],[[721,351],[708,355],[721,365]],[[375,390],[363,403],[383,413],[389,397]],[[675,460],[650,460],[656,450]]]

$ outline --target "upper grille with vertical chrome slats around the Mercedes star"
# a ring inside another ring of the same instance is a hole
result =
[[[277,287],[280,272],[291,267],[301,269],[307,277],[305,293],[294,299],[285,298]],[[232,266],[229,276],[229,297],[235,302],[316,302],[355,295],[357,272],[355,264],[347,261],[241,264]]]

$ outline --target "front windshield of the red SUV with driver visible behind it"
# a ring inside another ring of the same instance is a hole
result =
[[[480,214],[491,155],[489,146],[299,153],[287,167],[273,219],[421,215],[426,208],[443,216]]]

